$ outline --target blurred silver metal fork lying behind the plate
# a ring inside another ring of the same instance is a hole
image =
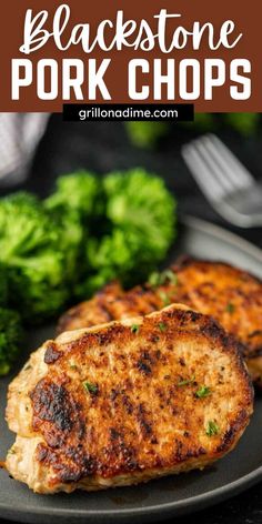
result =
[[[262,225],[262,185],[214,134],[183,145],[182,157],[211,205],[241,228]]]

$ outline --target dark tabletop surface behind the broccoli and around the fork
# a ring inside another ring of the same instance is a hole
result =
[[[262,180],[262,131],[256,137],[242,138],[224,129],[220,135],[255,178]],[[58,114],[52,115],[23,188],[46,195],[58,174],[78,168],[90,169],[100,174],[142,165],[165,179],[168,187],[178,195],[180,213],[190,213],[215,222],[262,248],[262,229],[231,228],[209,206],[199,191],[180,155],[181,143],[192,137],[192,133],[189,137],[187,130],[174,128],[157,151],[147,151],[129,144],[122,123],[71,123],[62,122]],[[175,518],[175,524],[191,522],[261,524],[262,484],[209,510]],[[0,520],[0,524],[4,522]]]

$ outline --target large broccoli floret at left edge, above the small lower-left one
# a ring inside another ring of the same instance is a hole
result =
[[[11,306],[27,321],[51,318],[68,299],[62,239],[36,196],[20,192],[0,201],[0,261],[8,265]]]

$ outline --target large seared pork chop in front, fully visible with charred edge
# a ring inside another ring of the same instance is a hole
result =
[[[172,305],[33,353],[9,389],[7,468],[50,494],[201,470],[235,446],[252,407],[234,339]]]

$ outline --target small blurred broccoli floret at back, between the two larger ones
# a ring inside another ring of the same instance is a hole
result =
[[[82,221],[97,213],[100,205],[101,184],[94,174],[79,171],[64,174],[57,180],[57,189],[44,201],[49,211],[59,215],[73,213]]]

